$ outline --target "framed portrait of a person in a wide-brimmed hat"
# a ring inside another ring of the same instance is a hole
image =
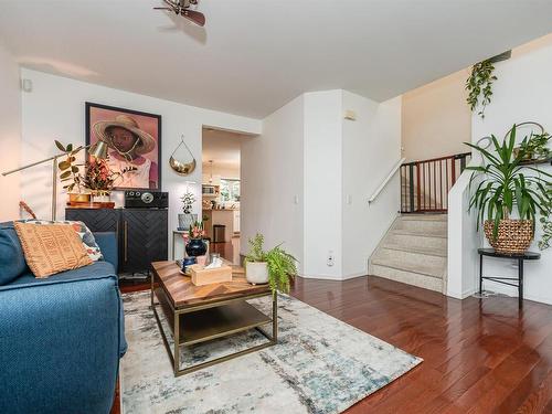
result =
[[[114,190],[161,189],[161,116],[86,103],[86,145],[102,140],[108,166],[124,172]]]

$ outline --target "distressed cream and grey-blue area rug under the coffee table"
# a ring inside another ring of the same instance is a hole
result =
[[[149,300],[149,293],[124,295],[128,352],[120,363],[120,394],[125,414],[339,413],[422,362],[280,295],[278,344],[174,378]],[[269,312],[267,298],[251,304]],[[264,340],[253,331],[198,344],[181,351],[182,365]]]

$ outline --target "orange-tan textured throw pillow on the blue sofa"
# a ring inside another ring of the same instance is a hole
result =
[[[71,224],[13,223],[26,264],[38,278],[92,264]]]

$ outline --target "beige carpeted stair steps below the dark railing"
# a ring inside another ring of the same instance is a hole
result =
[[[369,275],[446,293],[447,215],[400,215],[370,257]]]

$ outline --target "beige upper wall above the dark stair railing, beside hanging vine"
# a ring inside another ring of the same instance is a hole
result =
[[[403,95],[402,146],[406,161],[468,152],[471,113],[465,89],[469,70],[456,72]]]

